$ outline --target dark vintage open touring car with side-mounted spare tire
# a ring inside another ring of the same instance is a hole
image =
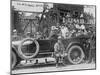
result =
[[[34,60],[38,64],[38,60],[43,58],[48,62],[48,58],[54,58],[54,45],[57,39],[33,39],[25,38],[20,41],[12,41],[11,65],[15,68],[22,60]],[[83,60],[88,59],[90,44],[88,36],[71,37],[62,39],[65,47],[64,62],[71,64],[79,64]]]

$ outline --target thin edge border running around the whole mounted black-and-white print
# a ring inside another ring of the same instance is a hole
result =
[[[73,4],[73,3],[57,3],[57,2],[42,2],[42,1],[25,1],[25,0],[10,0],[10,74],[11,75],[16,75],[12,74],[12,69],[11,69],[11,49],[12,49],[12,18],[11,18],[11,7],[12,7],[12,1],[18,1],[18,2],[36,2],[36,3],[56,3],[56,4],[68,4],[68,5],[86,5],[86,6],[94,6],[95,7],[95,26],[96,26],[96,61],[95,61],[95,68],[94,69],[80,69],[80,70],[62,70],[62,71],[45,71],[45,72],[31,72],[31,73],[18,73],[19,74],[40,74],[40,73],[54,73],[54,72],[72,72],[72,71],[86,71],[86,70],[96,70],[97,69],[97,6],[96,5],[87,5],[87,4]]]

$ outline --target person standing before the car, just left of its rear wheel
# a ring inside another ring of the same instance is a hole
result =
[[[63,62],[63,57],[64,57],[65,48],[61,39],[62,39],[61,36],[58,37],[58,41],[54,45],[54,50],[55,50],[54,56],[56,58],[56,67],[58,67],[59,61]]]

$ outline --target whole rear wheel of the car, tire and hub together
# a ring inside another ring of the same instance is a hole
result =
[[[72,46],[68,51],[68,60],[72,64],[79,64],[84,59],[84,52],[83,49],[78,46]]]

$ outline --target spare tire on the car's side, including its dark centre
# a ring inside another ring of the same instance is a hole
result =
[[[25,38],[18,46],[18,52],[22,59],[33,58],[39,52],[39,43],[33,38]]]

